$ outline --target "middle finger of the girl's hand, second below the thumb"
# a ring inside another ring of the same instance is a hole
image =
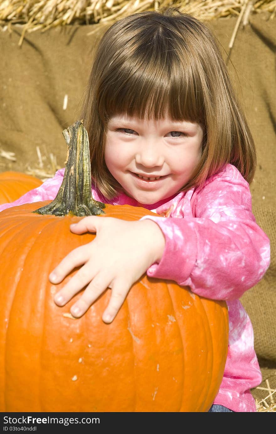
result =
[[[54,302],[58,306],[64,306],[76,293],[91,282],[95,274],[95,272],[93,273],[90,262],[84,264],[54,296]]]

